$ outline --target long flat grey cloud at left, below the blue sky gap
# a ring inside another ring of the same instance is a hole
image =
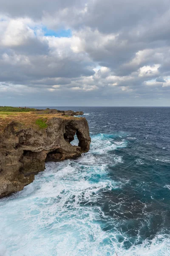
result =
[[[59,59],[56,56],[21,56],[16,61],[16,55],[8,56],[9,60],[0,59],[0,81],[10,81],[25,84],[29,80],[44,78],[74,78],[77,76],[91,76],[93,70],[89,70],[84,61],[78,62],[71,58]]]

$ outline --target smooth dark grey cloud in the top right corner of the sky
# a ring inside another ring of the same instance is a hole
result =
[[[103,33],[126,31],[150,26],[169,11],[169,0],[98,0],[89,2],[88,26]]]

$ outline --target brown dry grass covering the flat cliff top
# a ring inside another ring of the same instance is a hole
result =
[[[53,117],[62,119],[79,118],[74,116],[62,116],[61,113],[37,114],[35,112],[0,112],[0,132],[2,132],[4,128],[12,121],[17,121],[17,125],[15,127],[16,131],[21,128],[33,128],[38,130],[40,127],[36,124],[36,120],[41,117],[47,118],[47,120]]]

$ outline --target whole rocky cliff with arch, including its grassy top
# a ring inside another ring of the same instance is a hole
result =
[[[0,112],[0,197],[33,182],[45,162],[74,159],[90,148],[88,122],[73,116],[80,112],[20,110]],[[71,145],[75,134],[77,146]]]

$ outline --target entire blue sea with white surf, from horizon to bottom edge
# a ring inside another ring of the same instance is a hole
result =
[[[170,108],[56,108],[91,149],[0,200],[0,256],[169,256]]]

